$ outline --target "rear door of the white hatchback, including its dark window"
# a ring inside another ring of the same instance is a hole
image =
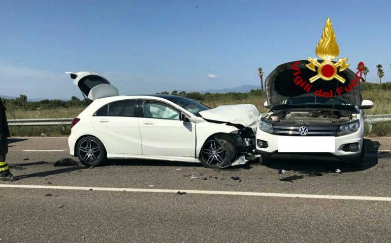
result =
[[[137,99],[114,101],[92,116],[92,126],[107,146],[108,153],[142,154]]]

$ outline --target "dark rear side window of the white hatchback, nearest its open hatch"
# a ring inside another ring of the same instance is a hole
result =
[[[127,116],[137,117],[138,100],[120,100],[107,104],[96,111],[96,116]]]

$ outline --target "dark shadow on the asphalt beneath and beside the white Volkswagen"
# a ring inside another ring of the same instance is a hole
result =
[[[380,143],[378,141],[372,141],[370,139],[364,139],[366,146],[366,158],[365,165],[361,168],[351,168],[348,163],[341,163],[336,161],[314,161],[314,160],[288,160],[288,159],[273,159],[273,161],[267,167],[276,170],[293,170],[299,173],[308,174],[311,171],[317,172],[335,172],[336,169],[340,169],[342,173],[365,171],[372,168],[378,163],[377,151],[379,150]]]

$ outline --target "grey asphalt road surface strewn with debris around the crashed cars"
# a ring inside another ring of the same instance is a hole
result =
[[[391,138],[366,140],[369,151],[361,169],[290,160],[222,170],[151,160],[111,160],[93,169],[53,167],[70,157],[66,141],[10,141],[9,165],[25,170],[12,170],[19,181],[0,182],[22,187],[0,187],[1,242],[391,242],[391,154],[378,153],[391,148]],[[279,181],[337,168],[342,174]],[[279,169],[287,173],[280,175]],[[241,181],[231,179],[235,176]],[[51,188],[23,188],[27,185]],[[96,187],[103,190],[88,189]],[[129,188],[146,192],[124,191]],[[229,194],[236,192],[278,194]],[[300,197],[287,197],[291,194]]]

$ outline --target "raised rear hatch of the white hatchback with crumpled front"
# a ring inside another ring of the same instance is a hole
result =
[[[94,72],[66,72],[74,79],[73,84],[90,100],[118,96],[118,89],[103,76]]]

